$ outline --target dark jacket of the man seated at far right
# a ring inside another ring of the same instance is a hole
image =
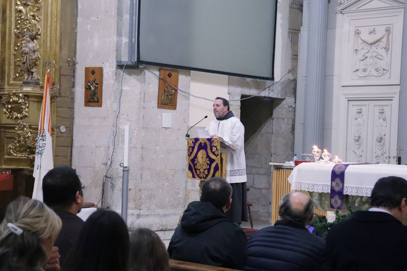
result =
[[[331,270],[407,270],[407,227],[386,212],[358,211],[328,231]]]

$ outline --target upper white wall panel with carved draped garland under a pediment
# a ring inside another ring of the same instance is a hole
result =
[[[341,85],[400,84],[404,1],[348,1],[339,10],[344,14]]]

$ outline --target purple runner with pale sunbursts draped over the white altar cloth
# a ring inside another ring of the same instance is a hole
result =
[[[344,186],[345,186],[345,171],[350,165],[369,165],[370,163],[363,164],[336,164],[333,166],[331,173],[331,186],[330,186],[330,207],[333,209],[342,209],[344,202]]]

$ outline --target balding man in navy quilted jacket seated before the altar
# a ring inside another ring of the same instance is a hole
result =
[[[245,270],[328,270],[325,241],[307,229],[314,217],[313,200],[301,192],[280,201],[280,220],[250,236]]]

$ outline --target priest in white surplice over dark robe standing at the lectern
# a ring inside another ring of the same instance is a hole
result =
[[[244,148],[245,127],[229,111],[229,101],[217,97],[213,102],[213,113],[216,117],[206,127],[211,138],[219,138],[221,147],[227,153],[226,181],[232,185],[232,205],[225,213],[237,223],[248,221],[246,191],[246,160]]]

